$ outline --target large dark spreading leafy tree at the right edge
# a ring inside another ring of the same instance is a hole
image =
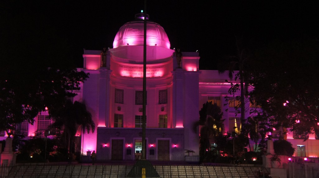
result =
[[[276,40],[256,51],[250,100],[261,106],[263,117],[276,123],[276,129],[290,128],[298,134],[318,131],[318,57],[318,40],[307,36]]]

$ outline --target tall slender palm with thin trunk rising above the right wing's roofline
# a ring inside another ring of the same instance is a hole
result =
[[[239,40],[236,37],[236,48],[237,53],[234,56],[228,56],[227,57],[227,63],[225,62],[219,63],[219,74],[223,74],[226,71],[228,71],[228,77],[230,80],[238,79],[240,80],[240,86],[238,85],[232,85],[232,88],[229,89],[230,93],[234,93],[238,89],[241,92],[240,96],[240,108],[241,108],[241,129],[245,129],[245,95],[248,94],[248,66],[247,62],[249,61],[249,55],[246,49],[242,49],[241,45],[241,39]],[[234,75],[234,72],[238,70],[238,73]]]

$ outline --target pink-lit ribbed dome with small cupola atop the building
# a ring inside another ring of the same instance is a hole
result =
[[[126,45],[144,45],[144,14],[135,15],[135,20],[125,23],[116,33],[113,48]],[[146,16],[146,45],[169,49],[170,43],[163,27],[148,20]]]

